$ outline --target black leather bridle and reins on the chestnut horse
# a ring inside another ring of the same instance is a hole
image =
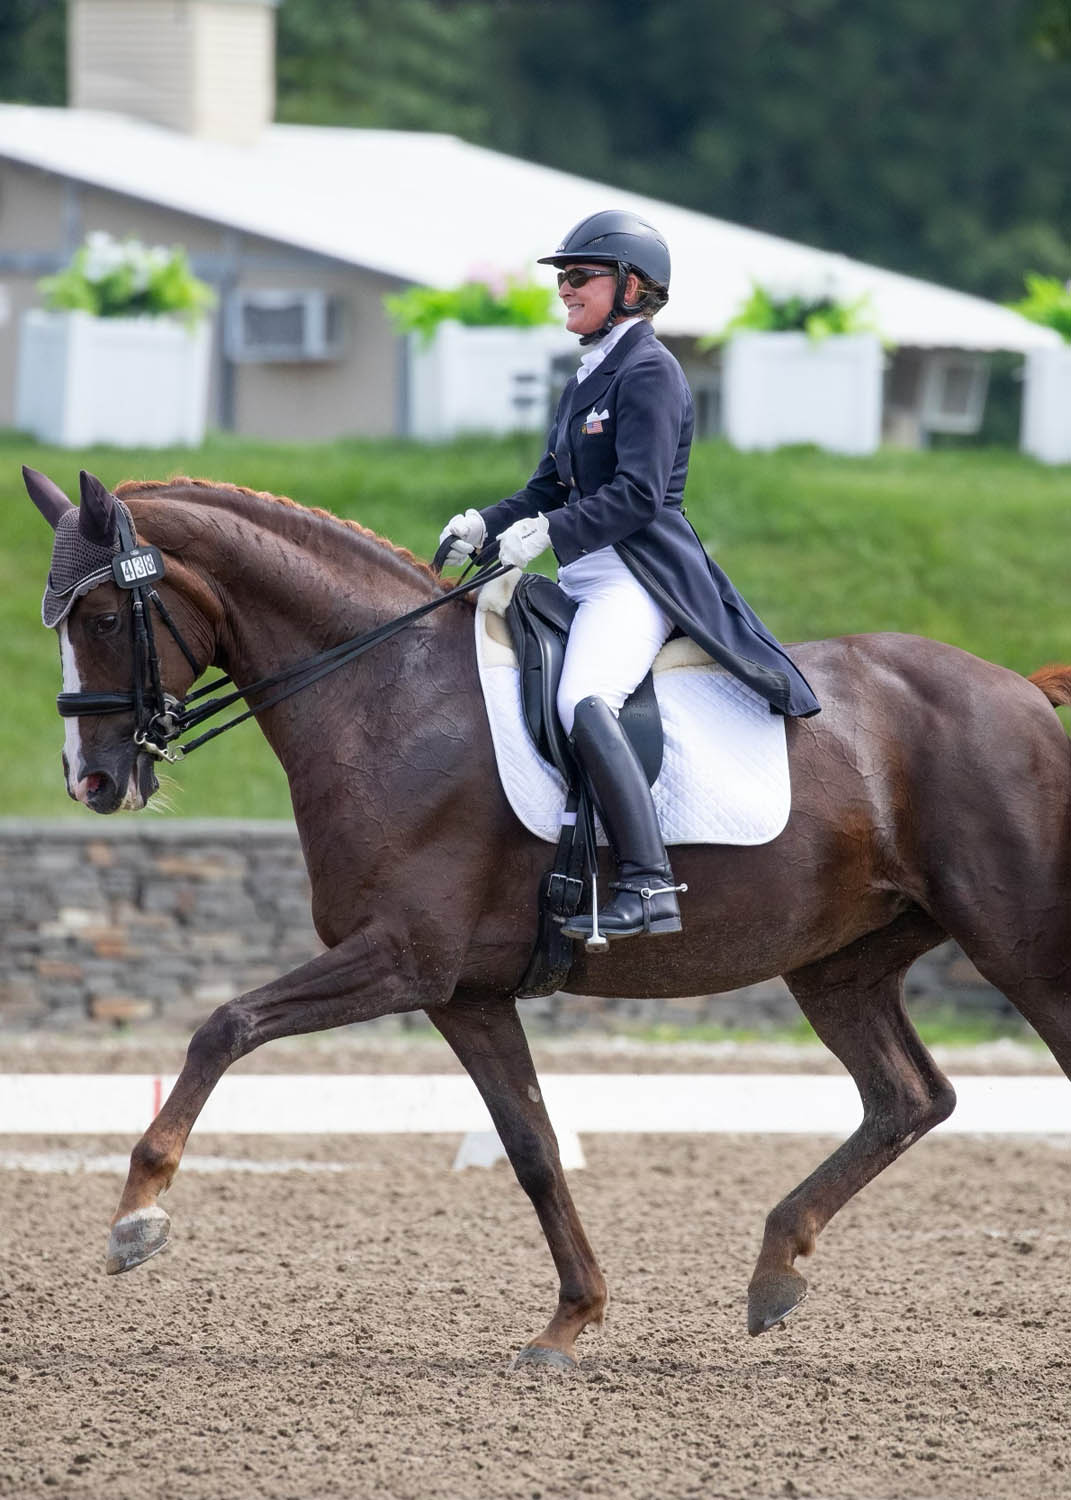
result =
[[[160,760],[180,760],[202,744],[222,735],[226,729],[234,729],[237,724],[244,723],[246,718],[274,708],[276,704],[282,704],[284,699],[302,693],[322,676],[336,672],[340,666],[370,651],[372,646],[390,640],[392,636],[406,630],[417,620],[430,615],[434,609],[440,609],[442,604],[448,604],[452,600],[460,598],[476,588],[482,588],[492,579],[501,578],[502,573],[508,573],[506,564],[496,561],[498,548],[492,543],[483,552],[472,556],[454,588],[446,594],[440,594],[438,598],[432,598],[405,615],[398,615],[394,620],[376,626],[375,630],[366,630],[358,636],[351,636],[348,640],[340,640],[338,645],[328,646],[326,651],[318,651],[302,662],[294,662],[291,666],[282,668],[270,676],[262,676],[256,682],[236,687],[234,692],[222,698],[208,698],[206,702],[190,706],[198,699],[204,699],[207,693],[214,693],[220,687],[232,684],[234,680],[230,675],[218,676],[214,681],[206,682],[204,687],[198,687],[196,692],[189,693],[184,699],[177,699],[164,690],[160,658],[153,634],[153,609],[159,614],[160,621],[174,638],[196,676],[201,675],[201,668],[198,668],[194,652],[183,640],[182,632],[168,614],[164,600],[152,586],[154,579],[164,576],[164,558],[156,548],[138,546],[134,528],[123,513],[122,506],[116,508],[116,514],[118,518],[118,534],[123,549],[112,560],[112,574],[120,588],[126,588],[130,592],[134,688],[129,693],[60,693],[56,699],[56,706],[63,718],[78,718],[84,714],[126,714],[134,710],[135,744]],[[453,540],[453,537],[448,537],[436,550],[432,562],[435,573],[442,570]],[[465,582],[470,568],[474,566],[477,568],[476,574]],[[182,746],[172,746],[174,740],[178,740],[206,720],[214,718],[216,714],[222,714],[242,699],[273,687],[280,687],[282,690],[255,708],[248,708],[244,712],[236,714],[234,718],[228,718],[225,724],[216,724],[213,729],[206,730],[195,740],[188,740]]]

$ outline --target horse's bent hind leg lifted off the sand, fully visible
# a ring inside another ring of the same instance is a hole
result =
[[[766,1218],[747,1298],[750,1334],[765,1334],[807,1294],[794,1269],[837,1209],[956,1104],[948,1078],[903,1008],[903,976],[944,933],[918,912],[784,980],[825,1046],[855,1078],[862,1124]]]

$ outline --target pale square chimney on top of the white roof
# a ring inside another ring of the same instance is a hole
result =
[[[278,3],[69,0],[70,105],[255,141],[274,116]]]

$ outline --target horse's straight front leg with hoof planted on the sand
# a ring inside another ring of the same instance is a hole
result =
[[[558,1270],[555,1314],[538,1338],[520,1350],[516,1364],[573,1368],[576,1338],[588,1323],[603,1322],[606,1281],[566,1185],[558,1142],[516,1006],[506,999],[478,1002],[458,993],[430,1018],[480,1090]]]

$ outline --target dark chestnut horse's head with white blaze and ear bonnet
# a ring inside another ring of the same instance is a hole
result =
[[[117,582],[122,566],[112,568],[117,556],[132,555],[134,524],[123,502],[84,471],[81,506],[72,506],[36,470],[24,468],[22,477],[34,506],[56,531],[42,620],[60,639],[64,694],[81,694],[76,717],[66,717],[68,795],[94,813],[144,807],[158,780],[154,756],[135,732],[144,729],[153,706],[160,706],[154,699],[153,656],[159,681],[176,698],[189,688],[195,674],[168,630],[150,634],[150,652],[136,645],[135,610],[141,596]],[[152,572],[150,562],[148,582],[156,586]],[[141,723],[135,716],[135,693],[142,700]]]

